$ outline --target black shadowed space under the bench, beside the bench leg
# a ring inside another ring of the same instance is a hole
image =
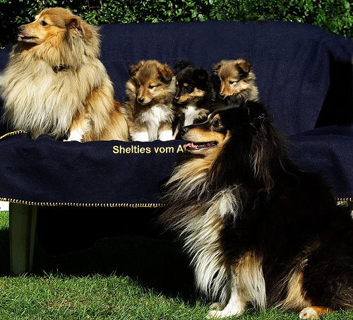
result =
[[[128,275],[190,302],[189,260],[155,223],[155,209],[39,208],[34,273]]]

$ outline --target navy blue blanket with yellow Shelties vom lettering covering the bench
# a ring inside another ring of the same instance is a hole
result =
[[[103,25],[101,33],[101,59],[119,101],[128,66],[141,59],[171,66],[187,59],[209,71],[222,59],[252,61],[261,99],[289,136],[292,158],[304,170],[322,172],[337,197],[353,196],[351,40],[312,25],[280,22]],[[0,52],[0,70],[8,52]],[[2,126],[0,134],[5,132]],[[158,203],[158,187],[180,145],[8,136],[0,140],[0,198],[77,206]],[[130,153],[121,154],[128,148]]]

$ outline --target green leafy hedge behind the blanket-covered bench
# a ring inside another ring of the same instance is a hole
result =
[[[0,47],[16,42],[18,25],[43,8],[63,6],[90,23],[282,20],[311,23],[353,37],[348,0],[0,0]]]

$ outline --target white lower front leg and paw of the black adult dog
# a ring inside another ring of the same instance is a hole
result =
[[[227,316],[240,316],[244,312],[246,307],[246,300],[244,300],[244,297],[241,297],[241,294],[239,293],[237,278],[232,275],[231,281],[231,292],[227,305],[224,307],[224,309],[219,310],[221,304],[212,304],[211,309],[217,310],[210,310],[207,316],[208,319],[219,319],[225,318]]]

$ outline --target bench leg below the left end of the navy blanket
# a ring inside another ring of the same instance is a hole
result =
[[[32,271],[36,222],[37,206],[10,203],[10,259],[13,275]]]

